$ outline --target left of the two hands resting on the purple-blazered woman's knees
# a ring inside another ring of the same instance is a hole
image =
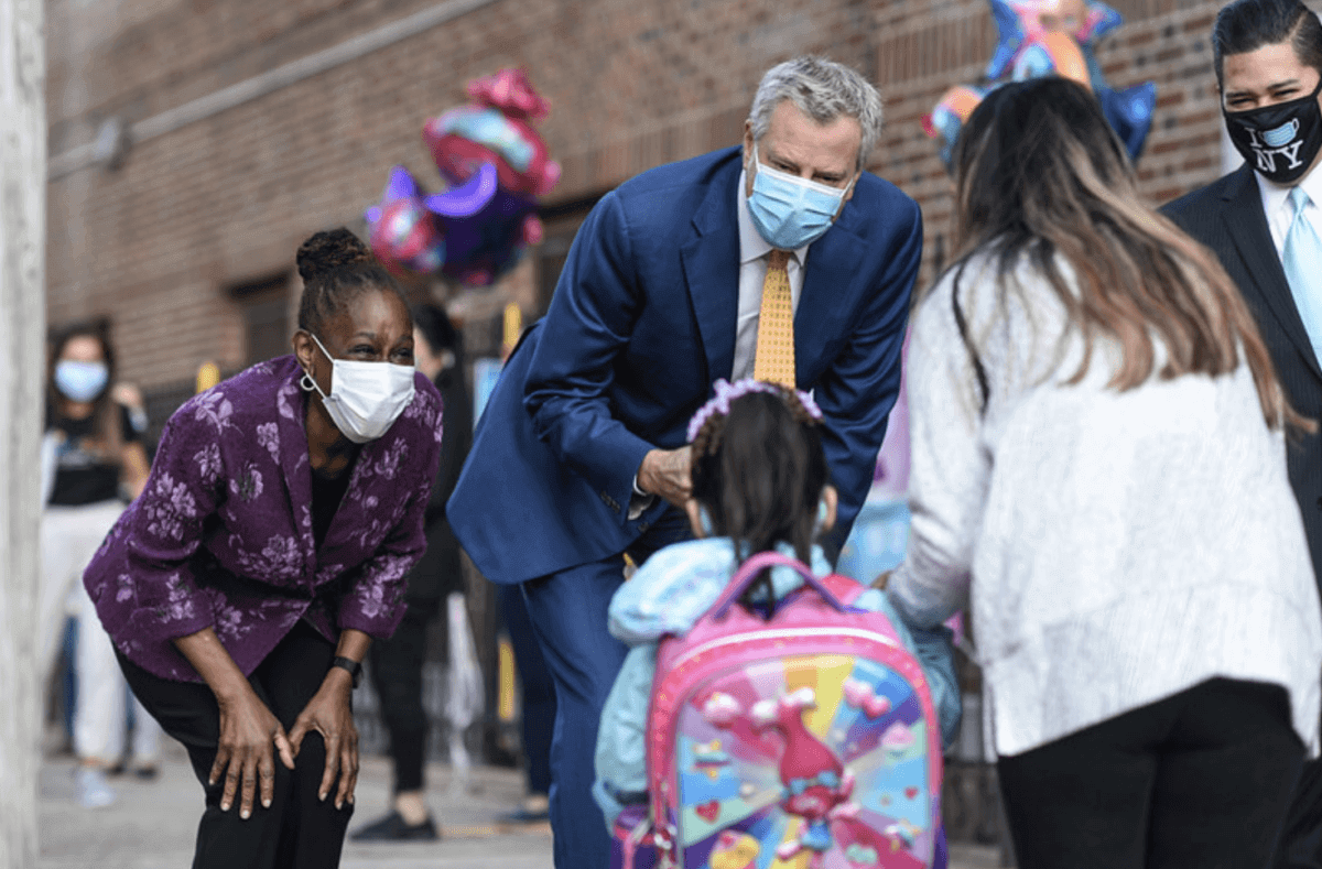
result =
[[[208,784],[214,786],[223,775],[221,811],[230,811],[238,791],[239,817],[247,820],[253,815],[253,796],[258,787],[262,807],[271,808],[271,799],[275,796],[274,751],[279,751],[280,762],[292,770],[296,750],[286,737],[280,721],[251,687],[234,695],[217,695],[215,700],[221,708],[221,740]]]

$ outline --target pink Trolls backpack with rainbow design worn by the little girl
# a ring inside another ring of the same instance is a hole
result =
[[[763,619],[736,600],[772,565],[806,586]],[[761,552],[661,641],[649,804],[616,820],[616,869],[944,866],[931,692],[886,615],[849,606],[863,590]]]

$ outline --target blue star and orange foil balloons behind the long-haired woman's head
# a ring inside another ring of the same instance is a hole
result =
[[[1060,75],[1092,90],[1103,114],[1125,143],[1130,158],[1142,153],[1157,104],[1157,86],[1144,82],[1113,90],[1097,62],[1096,46],[1122,24],[1118,12],[1099,0],[989,0],[999,40],[985,79],[947,91],[923,119],[928,136],[941,143],[941,160],[951,153],[960,129],[977,104],[1006,82]]]

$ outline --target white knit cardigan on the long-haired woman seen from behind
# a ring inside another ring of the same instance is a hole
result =
[[[1059,297],[1026,263],[998,293],[978,256],[960,308],[984,411],[953,284],[914,314],[914,524],[890,597],[924,626],[972,604],[988,745],[1018,754],[1228,676],[1284,685],[1315,754],[1322,610],[1248,366],[1118,392],[1101,341],[1067,384],[1084,350]]]

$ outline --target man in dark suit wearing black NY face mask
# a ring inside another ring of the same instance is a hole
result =
[[[1212,248],[1239,285],[1290,403],[1322,419],[1322,24],[1298,0],[1236,0],[1212,58],[1245,165],[1163,211]],[[1288,448],[1314,572],[1322,565],[1322,440]],[[1319,675],[1322,678],[1322,675]],[[1322,869],[1322,763],[1305,765],[1276,865]]]

